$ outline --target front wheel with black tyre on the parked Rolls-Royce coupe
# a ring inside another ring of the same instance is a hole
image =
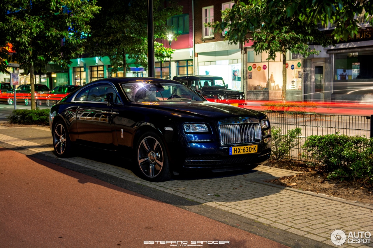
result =
[[[144,133],[135,146],[135,163],[142,178],[163,182],[171,178],[166,146],[154,132]]]

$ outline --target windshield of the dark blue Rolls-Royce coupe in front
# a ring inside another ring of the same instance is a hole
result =
[[[178,83],[138,81],[123,83],[122,88],[132,102],[205,101],[200,95]]]

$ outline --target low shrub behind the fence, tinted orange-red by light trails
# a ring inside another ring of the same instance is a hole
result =
[[[302,113],[314,113],[317,108],[317,104],[315,102],[267,102],[262,104],[266,111],[274,111],[274,112],[302,112]]]

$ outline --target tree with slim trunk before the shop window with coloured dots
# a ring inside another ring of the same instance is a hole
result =
[[[283,14],[285,3],[289,2],[278,1],[277,5],[261,0],[249,0],[247,4],[240,2],[222,12],[222,22],[208,24],[214,28],[214,32],[228,28],[225,39],[230,43],[244,44],[251,39],[256,53],[268,52],[267,60],[274,60],[277,53],[282,54],[283,102],[286,102],[286,51],[307,58],[310,54],[320,52],[311,50],[309,43],[317,42],[323,46],[332,44],[332,39],[320,32],[315,23],[300,25],[295,15]]]

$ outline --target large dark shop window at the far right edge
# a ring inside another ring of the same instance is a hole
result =
[[[373,51],[334,55],[333,93],[373,93]]]

